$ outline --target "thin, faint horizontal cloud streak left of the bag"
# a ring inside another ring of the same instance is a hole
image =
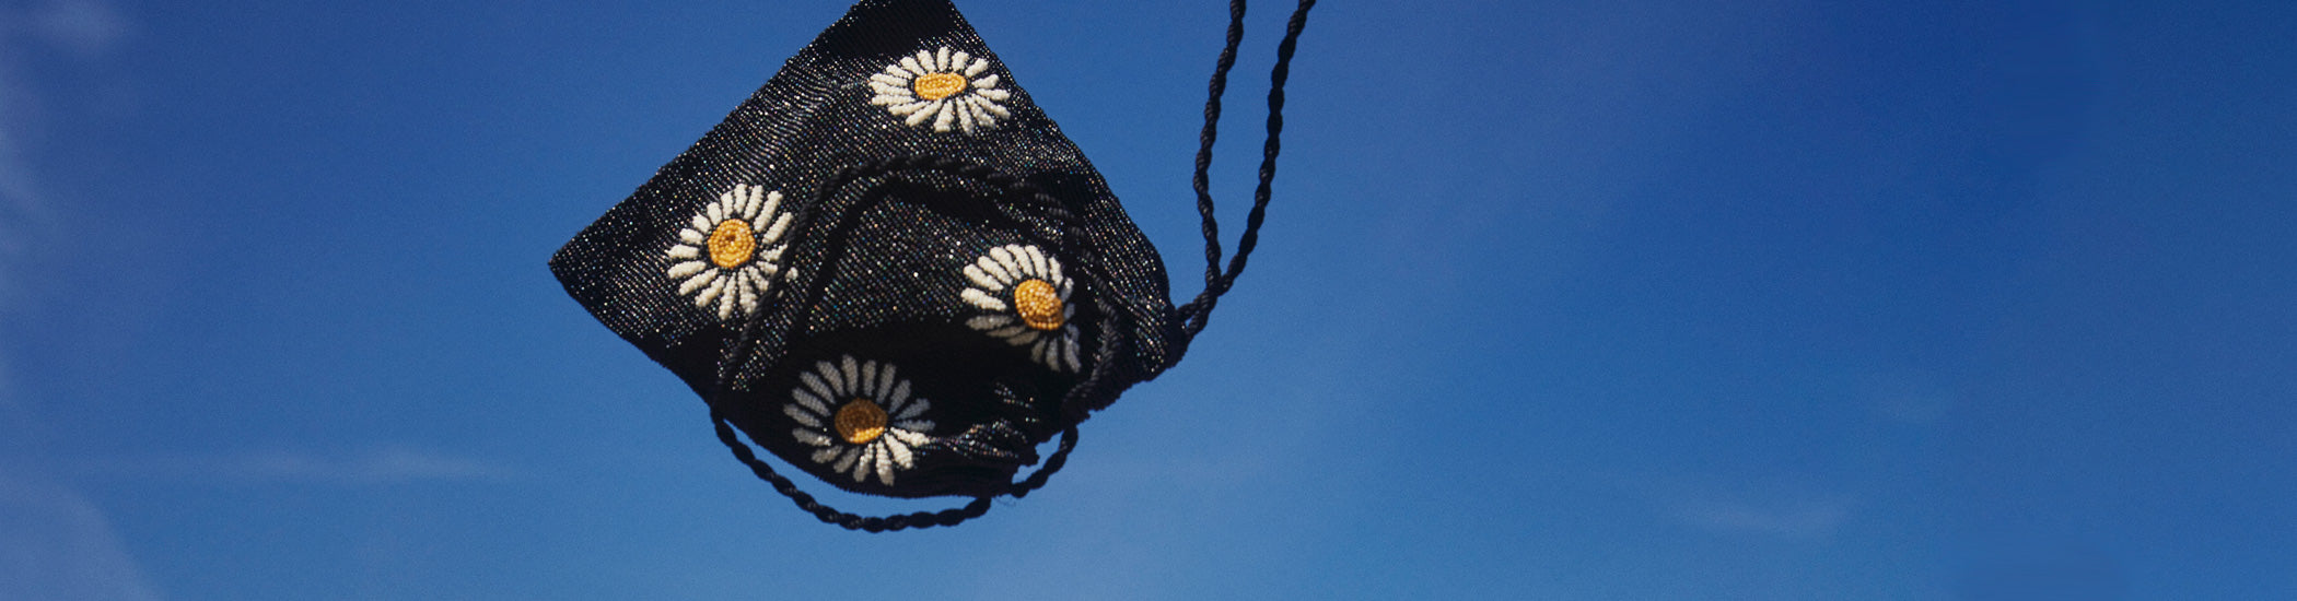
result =
[[[283,482],[283,484],[416,484],[455,479],[503,479],[512,470],[492,461],[413,447],[381,447],[356,454],[237,452],[76,461],[85,477]]]

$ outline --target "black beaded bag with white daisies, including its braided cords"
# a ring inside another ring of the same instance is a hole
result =
[[[1245,5],[1231,2],[1197,156],[1206,291],[1188,305],[1171,305],[1155,248],[1100,172],[949,0],[854,5],[551,271],[685,378],[728,450],[802,509],[871,532],[956,525],[1043,486],[1080,422],[1178,362],[1204,328],[1252,252],[1312,5],[1279,44],[1261,186],[1222,268],[1206,167],[1243,34]],[[845,491],[974,502],[836,512],[735,429]]]

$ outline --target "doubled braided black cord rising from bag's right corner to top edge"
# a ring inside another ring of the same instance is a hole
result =
[[[1229,44],[1220,50],[1220,60],[1213,67],[1211,99],[1204,106],[1204,135],[1197,147],[1197,213],[1204,216],[1204,291],[1197,300],[1174,310],[1181,319],[1181,330],[1185,337],[1197,337],[1204,330],[1206,319],[1213,314],[1213,305],[1220,303],[1222,294],[1236,284],[1236,278],[1245,273],[1245,259],[1252,257],[1252,248],[1261,241],[1261,223],[1268,218],[1268,197],[1277,179],[1277,154],[1282,151],[1284,138],[1284,80],[1291,78],[1291,57],[1300,46],[1300,32],[1307,28],[1307,11],[1316,7],[1316,0],[1300,0],[1293,9],[1291,21],[1284,25],[1284,39],[1277,41],[1277,64],[1268,73],[1268,142],[1261,147],[1261,181],[1252,190],[1252,213],[1245,216],[1245,234],[1236,239],[1236,257],[1229,259],[1229,268],[1220,268],[1220,225],[1213,218],[1213,195],[1211,177],[1213,167],[1213,142],[1217,128],[1213,122],[1220,119],[1220,94],[1229,87],[1229,67],[1236,67],[1236,46],[1243,41],[1243,18],[1245,0],[1229,2]]]

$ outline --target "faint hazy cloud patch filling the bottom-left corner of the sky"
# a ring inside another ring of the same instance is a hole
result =
[[[0,599],[161,599],[85,495],[0,470]]]

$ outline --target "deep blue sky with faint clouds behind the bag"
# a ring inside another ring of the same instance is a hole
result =
[[[1197,273],[1220,2],[960,7]],[[875,537],[542,264],[843,9],[0,0],[0,599],[2297,596],[2297,9],[1325,2],[1188,362]]]

